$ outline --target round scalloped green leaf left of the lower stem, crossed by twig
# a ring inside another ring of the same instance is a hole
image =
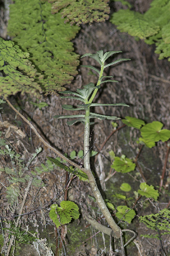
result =
[[[79,208],[74,202],[62,201],[60,207],[57,204],[53,204],[50,208],[49,216],[57,228],[58,226],[70,223],[72,218],[76,220],[80,216]],[[59,220],[57,219],[56,212],[59,215]]]

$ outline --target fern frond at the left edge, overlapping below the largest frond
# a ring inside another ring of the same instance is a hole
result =
[[[43,75],[37,73],[34,65],[26,59],[29,53],[23,53],[18,45],[12,41],[0,38],[0,70],[4,76],[0,76],[0,96],[6,99],[19,91],[29,93],[40,98],[41,87],[35,79],[42,81]]]

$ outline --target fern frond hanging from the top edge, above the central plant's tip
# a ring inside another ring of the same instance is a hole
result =
[[[82,23],[105,22],[105,19],[109,19],[108,0],[49,0],[49,2],[53,3],[52,13],[62,9],[61,18],[67,16],[65,23],[71,21],[71,26],[74,23],[80,26]]]

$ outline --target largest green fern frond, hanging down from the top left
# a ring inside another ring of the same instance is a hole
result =
[[[51,7],[46,1],[16,0],[10,5],[7,31],[44,75],[41,81],[34,78],[45,95],[58,95],[57,91],[64,91],[63,85],[71,83],[78,73],[79,55],[73,52],[70,40],[80,28],[65,24],[60,14],[51,14]]]

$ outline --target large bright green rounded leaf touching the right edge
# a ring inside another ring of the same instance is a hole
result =
[[[159,121],[153,121],[152,123],[146,124],[141,128],[141,135],[144,139],[148,139],[154,142],[159,140],[167,141],[170,138],[170,130],[163,129],[163,124]]]

